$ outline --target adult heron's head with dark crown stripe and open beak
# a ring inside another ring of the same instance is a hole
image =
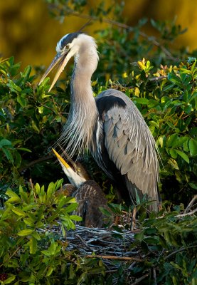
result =
[[[43,77],[39,82],[40,85],[46,76],[48,76],[48,73],[50,73],[50,71],[52,71],[52,69],[59,63],[58,71],[55,74],[55,78],[53,79],[49,91],[53,88],[55,82],[60,76],[60,73],[63,71],[70,58],[73,56],[76,56],[75,58],[78,58],[80,52],[82,53],[83,51],[88,51],[89,56],[95,56],[97,60],[97,45],[94,41],[94,38],[87,36],[85,33],[68,33],[67,35],[63,36],[63,38],[61,38],[57,43],[56,51],[57,54],[55,58],[53,58],[52,63],[50,63],[50,66],[48,67],[46,73],[43,74]]]

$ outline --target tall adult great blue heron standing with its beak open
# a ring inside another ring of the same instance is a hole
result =
[[[60,137],[67,152],[89,149],[97,164],[115,181],[119,198],[127,204],[147,195],[151,209],[160,204],[159,162],[155,141],[141,113],[124,93],[108,89],[94,98],[92,73],[98,63],[94,38],[85,33],[69,33],[58,41],[57,55],[39,84],[60,63],[49,91],[66,64],[74,56],[70,113]]]

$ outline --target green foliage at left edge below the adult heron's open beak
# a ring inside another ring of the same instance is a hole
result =
[[[48,149],[59,137],[68,106],[62,90],[58,96],[53,96],[53,93],[46,93],[47,85],[36,88],[31,66],[20,73],[19,68],[14,58],[1,60],[0,164],[1,182],[7,187],[24,185],[21,172],[33,167],[33,162],[40,162],[33,168],[33,182],[41,174],[53,180],[50,176],[53,171],[46,164],[46,158],[51,158],[47,157]],[[26,172],[24,175],[30,176]]]

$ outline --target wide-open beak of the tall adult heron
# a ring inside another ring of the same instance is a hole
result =
[[[50,73],[50,71],[52,71],[52,69],[60,62],[60,65],[58,67],[58,71],[55,74],[55,77],[53,79],[53,82],[51,83],[51,86],[49,88],[48,91],[50,91],[53,86],[55,85],[55,82],[58,80],[60,73],[63,71],[63,69],[65,68],[66,64],[68,63],[70,58],[67,58],[67,54],[69,51],[66,51],[64,53],[57,53],[57,55],[55,56],[55,58],[53,58],[52,63],[50,63],[50,66],[48,67],[47,71],[43,74],[43,77],[41,78],[41,81],[38,83],[38,85],[40,85],[43,80],[46,78],[46,76],[48,76],[48,73]]]

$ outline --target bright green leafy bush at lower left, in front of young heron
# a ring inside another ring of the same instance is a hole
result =
[[[60,224],[65,237],[67,230],[75,229],[73,221],[80,221],[80,217],[69,214],[78,205],[73,197],[55,196],[62,182],[51,182],[46,191],[38,184],[29,192],[19,187],[19,195],[11,189],[6,191],[9,199],[0,212],[0,258],[1,272],[7,278],[1,284],[54,284],[50,282],[53,271],[65,271],[67,243],[58,240],[51,229]]]

